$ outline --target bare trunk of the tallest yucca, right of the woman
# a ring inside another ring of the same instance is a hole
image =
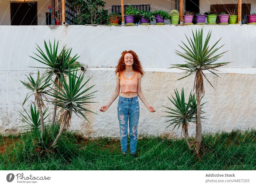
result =
[[[201,124],[201,100],[200,100],[200,92],[196,86],[196,105],[197,105],[197,113],[196,113],[196,154],[199,155],[201,152],[201,142],[202,142],[202,124]]]

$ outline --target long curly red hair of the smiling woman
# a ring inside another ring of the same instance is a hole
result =
[[[116,66],[116,71],[115,71],[115,74],[118,73],[118,76],[120,75],[121,72],[123,72],[125,70],[125,63],[124,63],[124,55],[125,54],[132,54],[133,56],[133,64],[132,64],[132,68],[133,70],[139,72],[141,74],[141,76],[144,75],[144,71],[142,69],[142,66],[141,66],[141,63],[140,63],[140,60],[139,60],[139,57],[137,56],[137,54],[132,51],[132,50],[124,50],[122,52],[122,56],[121,58],[118,60],[118,64]]]

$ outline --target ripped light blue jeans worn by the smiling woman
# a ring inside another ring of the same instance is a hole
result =
[[[130,152],[135,153],[138,140],[137,128],[140,116],[140,105],[138,96],[131,98],[119,96],[117,114],[119,120],[120,142],[122,152],[126,153],[127,151],[129,119]]]

